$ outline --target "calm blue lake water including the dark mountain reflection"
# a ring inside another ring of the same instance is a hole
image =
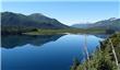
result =
[[[97,49],[103,35],[87,35],[87,49]],[[85,35],[2,36],[2,70],[70,70],[74,58],[85,59]]]

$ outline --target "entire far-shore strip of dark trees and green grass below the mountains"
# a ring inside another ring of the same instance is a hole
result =
[[[115,31],[103,30],[103,28],[35,28],[35,27],[23,27],[23,26],[1,26],[1,34],[26,34],[26,35],[53,35],[53,34],[111,34]]]

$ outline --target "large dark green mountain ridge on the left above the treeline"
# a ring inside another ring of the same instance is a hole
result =
[[[13,12],[1,13],[1,26],[11,27],[33,27],[33,28],[67,28],[69,26],[60,23],[56,19],[48,18],[40,13],[24,15]]]

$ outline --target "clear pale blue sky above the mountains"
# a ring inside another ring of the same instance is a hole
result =
[[[57,19],[63,24],[94,23],[109,18],[120,18],[120,1],[48,1],[48,0],[4,0],[2,12],[32,14],[41,13]]]

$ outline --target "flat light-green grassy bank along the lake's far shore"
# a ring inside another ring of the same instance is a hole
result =
[[[105,33],[105,30],[91,28],[91,30],[81,30],[81,28],[64,28],[64,30],[37,30],[34,32],[24,33],[27,35],[51,35],[51,34],[64,34],[64,33]]]

